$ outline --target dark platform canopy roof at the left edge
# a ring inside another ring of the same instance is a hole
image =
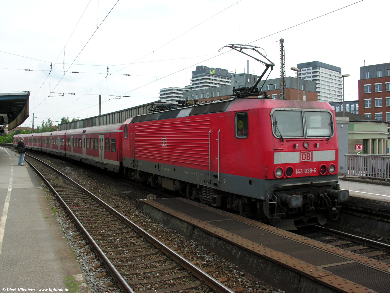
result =
[[[29,116],[28,98],[30,92],[0,93],[0,128],[8,130],[21,125]]]

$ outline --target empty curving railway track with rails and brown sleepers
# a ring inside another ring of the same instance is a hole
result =
[[[169,293],[207,285],[233,293],[62,172],[26,156],[124,292]]]

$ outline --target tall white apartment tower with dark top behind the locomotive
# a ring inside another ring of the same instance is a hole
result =
[[[297,64],[300,79],[316,82],[319,102],[342,101],[341,68],[319,61]]]

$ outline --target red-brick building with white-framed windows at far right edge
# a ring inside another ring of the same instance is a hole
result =
[[[360,67],[359,115],[390,121],[390,63]]]

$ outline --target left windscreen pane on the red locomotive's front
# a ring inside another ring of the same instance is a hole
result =
[[[304,136],[302,111],[277,110],[272,113],[272,120],[277,138]]]

